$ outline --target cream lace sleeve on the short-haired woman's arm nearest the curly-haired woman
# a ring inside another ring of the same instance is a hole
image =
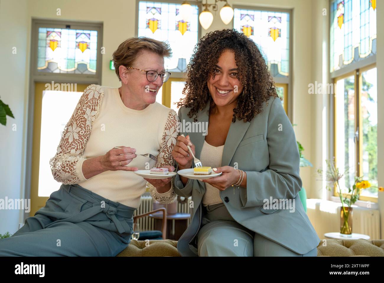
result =
[[[178,133],[179,117],[174,110],[168,114],[166,126],[164,127],[164,134],[162,137],[162,144],[157,156],[156,167],[163,167],[164,165],[174,166],[175,160],[172,156],[172,149],[176,144]],[[158,193],[156,188],[151,183],[147,182],[149,192],[154,200],[160,203],[173,203],[176,200],[176,193],[173,189],[174,178],[171,181],[171,188],[166,193]]]

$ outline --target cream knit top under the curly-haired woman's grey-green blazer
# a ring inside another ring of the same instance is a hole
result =
[[[203,147],[200,153],[200,161],[204,166],[211,166],[212,168],[221,167],[221,161],[223,156],[224,145],[211,146],[208,142],[204,141]],[[204,206],[210,204],[222,203],[220,198],[220,190],[205,183],[205,193],[202,203]]]

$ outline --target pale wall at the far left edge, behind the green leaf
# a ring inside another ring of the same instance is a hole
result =
[[[29,50],[26,2],[20,0],[15,5],[14,1],[0,1],[0,97],[15,117],[7,116],[7,126],[0,124],[0,199],[21,198],[24,191],[23,141]],[[16,54],[13,54],[14,47]],[[15,233],[21,214],[18,210],[0,210],[0,233]]]

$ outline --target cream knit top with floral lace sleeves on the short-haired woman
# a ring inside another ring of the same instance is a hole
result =
[[[143,110],[134,110],[124,105],[117,87],[90,85],[65,126],[56,155],[50,160],[53,178],[63,184],[79,184],[106,199],[138,208],[146,191],[146,180],[122,170],[105,171],[86,179],[83,162],[102,156],[115,146],[129,146],[137,153],[157,156],[157,162],[137,155],[127,166],[139,170],[173,166],[171,152],[178,134],[177,121],[174,110],[157,102]],[[176,198],[173,186],[163,194],[157,193],[153,186],[150,191],[154,199],[163,203]]]

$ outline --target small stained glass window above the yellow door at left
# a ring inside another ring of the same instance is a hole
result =
[[[39,28],[37,70],[96,74],[96,30]]]

